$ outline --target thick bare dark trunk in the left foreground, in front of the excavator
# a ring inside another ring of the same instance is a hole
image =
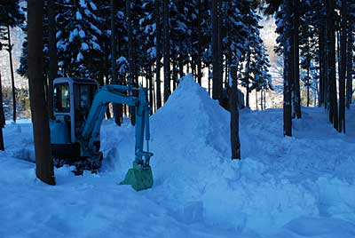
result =
[[[36,176],[49,185],[55,185],[49,117],[43,86],[43,0],[28,0],[28,84]]]

